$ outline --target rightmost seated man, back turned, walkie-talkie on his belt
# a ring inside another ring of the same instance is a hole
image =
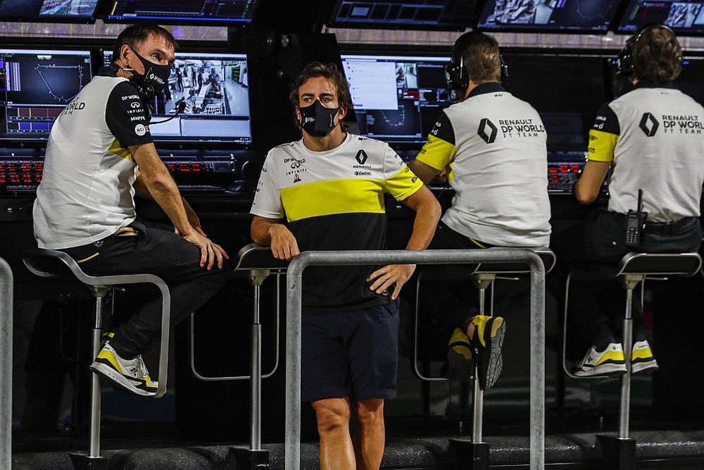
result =
[[[672,85],[681,63],[677,37],[662,25],[637,32],[619,54],[619,73],[635,88],[598,111],[589,132],[589,161],[574,187],[577,200],[590,204],[613,168],[608,210],[595,211],[584,231],[584,254],[591,261],[616,264],[628,252],[679,253],[699,248],[704,109]],[[640,210],[639,190],[647,218],[639,244],[633,245],[626,239],[627,214]],[[558,260],[565,251],[560,249]],[[626,372],[624,351],[615,334],[623,321],[623,301],[615,301],[624,294],[616,283],[609,285],[577,283],[570,292],[568,328],[582,337],[582,344],[591,342],[577,376]],[[628,352],[631,371],[655,371],[658,363],[643,330],[642,306],[636,305],[633,350]]]

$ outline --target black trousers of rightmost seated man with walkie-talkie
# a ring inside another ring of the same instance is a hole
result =
[[[565,280],[574,264],[596,262],[615,266],[629,252],[696,252],[702,241],[702,228],[696,218],[674,225],[647,224],[638,247],[626,246],[625,232],[623,214],[598,209],[586,224],[576,225],[553,238],[551,247],[557,255],[558,266],[551,274],[548,287],[558,304],[564,302]],[[605,340],[605,333],[613,333],[615,339],[620,336],[625,300],[625,292],[616,281],[572,283],[567,325],[567,352],[572,359],[578,359],[590,345]],[[636,340],[645,339],[641,313],[640,299],[634,299]]]

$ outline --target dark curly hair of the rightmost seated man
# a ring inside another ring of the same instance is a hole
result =
[[[637,40],[636,40],[637,38]],[[682,48],[670,28],[650,27],[631,41],[636,78],[662,85],[679,77]]]

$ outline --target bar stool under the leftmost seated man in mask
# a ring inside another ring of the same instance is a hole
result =
[[[120,285],[153,284],[161,291],[161,348],[159,352],[158,388],[153,398],[163,397],[168,378],[168,352],[171,296],[168,286],[152,274],[120,274],[117,276],[88,276],[73,258],[53,249],[34,248],[23,256],[27,269],[44,278],[75,278],[92,292],[95,298],[95,323],[93,328],[93,356],[101,350],[103,328],[103,298]],[[101,388],[98,376],[91,378],[90,447],[88,454],[69,454],[75,469],[106,469],[105,457],[100,455],[100,400]]]

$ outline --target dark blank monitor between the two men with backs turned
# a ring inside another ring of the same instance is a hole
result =
[[[541,54],[504,54],[504,59],[510,77],[505,87],[538,111],[548,149],[586,151],[596,112],[610,97],[605,59]]]

